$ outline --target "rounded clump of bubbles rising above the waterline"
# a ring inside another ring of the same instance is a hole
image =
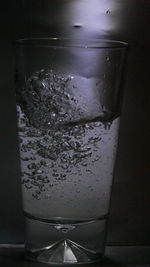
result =
[[[26,80],[17,98],[30,126],[47,131],[75,119],[76,99],[66,90],[73,78],[42,69]]]

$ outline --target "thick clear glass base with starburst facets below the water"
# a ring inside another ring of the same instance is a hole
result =
[[[47,264],[88,264],[104,255],[106,218],[88,222],[43,222],[26,217],[25,255]]]

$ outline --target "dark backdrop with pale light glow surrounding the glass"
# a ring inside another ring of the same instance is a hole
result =
[[[0,13],[0,243],[24,240],[12,41],[65,36],[129,43],[107,242],[150,244],[150,1],[5,0]]]

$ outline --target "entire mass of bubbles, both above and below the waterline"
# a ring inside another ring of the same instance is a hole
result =
[[[47,198],[50,188],[66,182],[71,173],[82,175],[81,168],[90,172],[90,165],[100,159],[100,131],[93,130],[103,124],[75,123],[82,119],[82,110],[68,92],[72,79],[40,70],[17,92],[22,184],[33,200]]]

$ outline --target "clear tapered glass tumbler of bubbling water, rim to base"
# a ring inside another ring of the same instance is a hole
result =
[[[127,44],[58,38],[16,42],[16,100],[26,256],[102,259]]]

